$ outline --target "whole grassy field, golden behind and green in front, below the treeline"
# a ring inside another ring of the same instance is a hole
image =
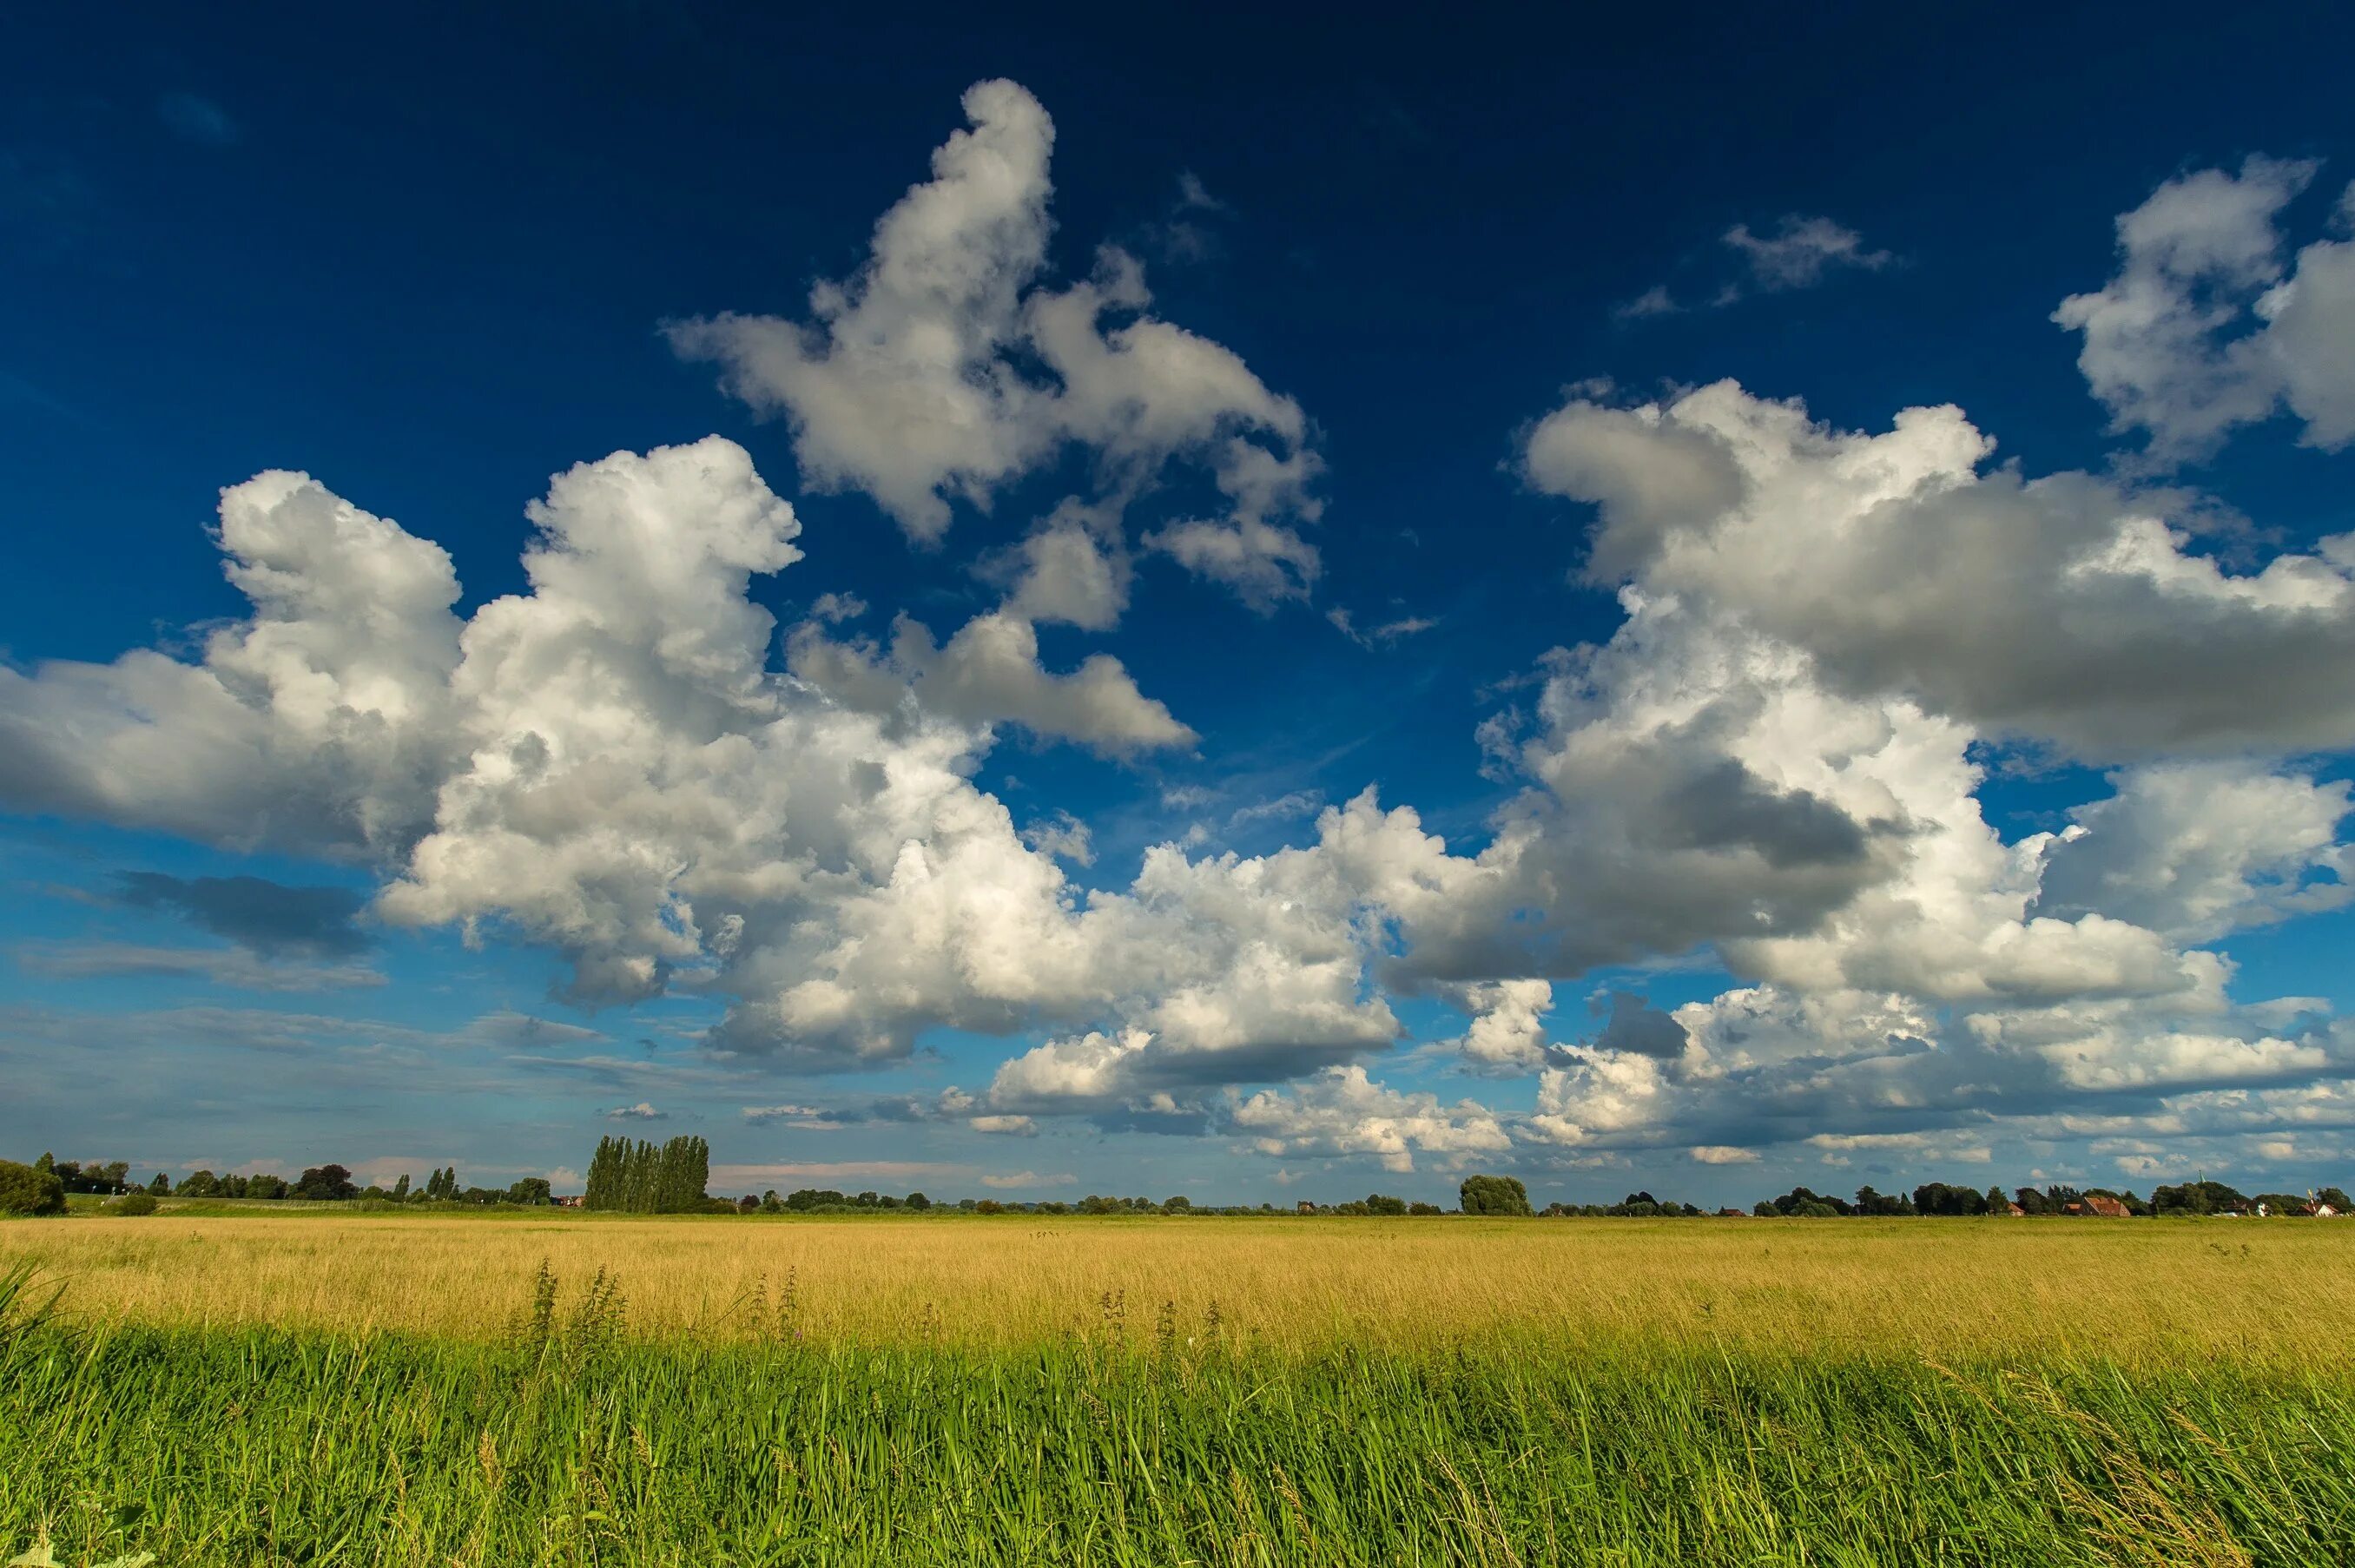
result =
[[[2350,1264],[2287,1222],[21,1222],[64,1295],[0,1330],[0,1547],[2343,1563]]]

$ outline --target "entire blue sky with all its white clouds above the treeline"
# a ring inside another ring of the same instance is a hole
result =
[[[2343,1184],[2324,7],[19,40],[9,1151]]]

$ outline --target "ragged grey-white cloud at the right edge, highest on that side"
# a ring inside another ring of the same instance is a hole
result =
[[[2117,275],[2054,311],[2084,337],[2077,367],[2110,428],[2148,433],[2150,461],[2209,457],[2284,405],[2306,445],[2355,440],[2355,240],[2315,240],[2284,266],[2275,226],[2317,172],[2249,158],[2169,179],[2120,214]],[[2355,186],[2339,219],[2355,224]]]

